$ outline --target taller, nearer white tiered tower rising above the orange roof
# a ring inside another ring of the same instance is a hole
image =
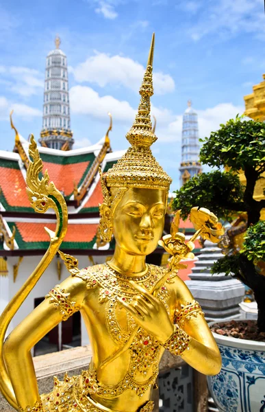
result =
[[[68,71],[66,55],[60,49],[60,38],[55,38],[55,49],[46,58],[42,146],[71,150],[74,139],[70,124]]]

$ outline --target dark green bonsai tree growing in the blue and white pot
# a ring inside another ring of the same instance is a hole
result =
[[[237,116],[200,141],[203,141],[201,162],[218,170],[198,174],[177,190],[173,209],[181,209],[181,217],[186,219],[194,205],[207,207],[218,218],[228,221],[238,212],[247,212],[248,229],[242,250],[219,259],[212,273],[234,274],[253,290],[258,308],[257,326],[260,332],[265,332],[265,222],[260,221],[265,200],[253,198],[255,184],[264,179],[265,124],[242,121]],[[240,171],[244,172],[246,185],[240,183]]]

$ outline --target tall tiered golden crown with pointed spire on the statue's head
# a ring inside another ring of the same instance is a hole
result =
[[[172,179],[153,157],[150,146],[157,137],[150,117],[150,98],[153,95],[153,34],[147,69],[140,87],[141,100],[133,126],[126,135],[131,144],[125,155],[103,176],[107,187],[145,187],[168,190]]]

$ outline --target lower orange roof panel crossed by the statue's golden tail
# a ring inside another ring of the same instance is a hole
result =
[[[55,230],[55,223],[16,222],[24,242],[49,242],[49,235],[44,227]],[[91,242],[97,232],[98,224],[75,223],[68,225],[64,242]]]

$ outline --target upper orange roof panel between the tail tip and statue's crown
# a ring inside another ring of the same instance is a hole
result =
[[[73,193],[73,183],[81,181],[90,161],[60,165],[48,161],[42,161],[43,170],[48,169],[50,180],[53,181],[58,190],[64,192],[65,196]]]

